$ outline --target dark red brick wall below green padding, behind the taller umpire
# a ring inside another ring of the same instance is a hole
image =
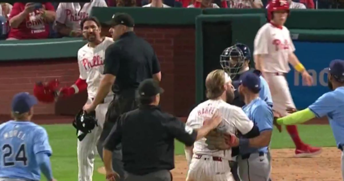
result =
[[[195,31],[194,27],[136,27],[135,32],[152,44],[162,70],[161,98],[163,110],[186,116],[195,101]],[[104,28],[107,34],[108,29]],[[36,81],[58,78],[62,86],[70,86],[79,76],[76,58],[0,62],[0,114],[10,112],[13,95],[20,91],[32,93]],[[71,101],[72,102],[72,101]],[[56,104],[71,107],[68,101]],[[54,114],[55,104],[40,103],[35,114]]]

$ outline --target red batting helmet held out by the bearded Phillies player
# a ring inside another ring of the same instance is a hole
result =
[[[55,101],[57,97],[57,87],[60,85],[60,82],[55,79],[51,80],[48,83],[37,82],[33,88],[33,94],[37,100],[45,103],[51,103]]]

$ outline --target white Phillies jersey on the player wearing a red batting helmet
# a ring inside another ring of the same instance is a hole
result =
[[[290,32],[285,27],[276,27],[271,23],[262,26],[254,41],[254,55],[261,54],[264,72],[287,73],[290,71],[288,57],[295,51]]]

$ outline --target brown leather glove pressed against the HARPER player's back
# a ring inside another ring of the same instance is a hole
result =
[[[230,146],[227,145],[223,133],[217,131],[210,131],[206,136],[205,143],[209,150],[228,150]]]

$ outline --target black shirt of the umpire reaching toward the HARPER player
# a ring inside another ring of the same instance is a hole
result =
[[[122,143],[125,171],[144,175],[174,169],[174,139],[191,146],[196,137],[197,131],[178,118],[144,105],[121,115],[104,148],[112,151]]]

